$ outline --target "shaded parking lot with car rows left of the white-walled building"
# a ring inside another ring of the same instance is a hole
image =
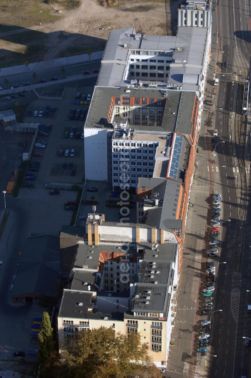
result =
[[[84,143],[81,134],[89,108],[89,101],[86,101],[86,98],[94,87],[93,85],[84,87],[85,82],[85,80],[79,81],[80,86],[76,86],[74,82],[74,84],[67,83],[65,88],[62,84],[43,88],[43,91],[46,89],[64,91],[63,100],[41,98],[27,107],[25,122],[40,123],[40,134],[36,141],[40,146],[37,145],[34,152],[42,156],[33,156],[31,159],[31,164],[34,161],[40,163],[35,173],[36,177],[32,180],[35,188],[42,188],[50,183],[82,184],[85,179]],[[88,83],[90,82],[94,84],[95,78],[89,79]],[[80,94],[76,98],[78,92]],[[35,111],[37,116],[34,117]],[[72,131],[73,135],[71,135]],[[60,150],[63,150],[61,155]],[[65,155],[66,150],[70,151],[69,156]],[[71,156],[72,150],[74,156]],[[27,181],[29,182],[29,178]]]

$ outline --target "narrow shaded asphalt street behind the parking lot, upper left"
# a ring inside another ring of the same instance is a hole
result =
[[[76,64],[64,66],[66,76],[76,74],[76,73],[81,73],[83,71],[92,70],[95,68],[100,68],[100,60],[92,61],[92,62],[85,62],[85,63],[76,63]],[[32,71],[28,70],[27,72],[22,73],[22,74],[8,76],[7,78],[8,85],[18,84],[20,86],[25,81],[32,82],[34,80],[34,77],[33,77],[34,72],[36,73],[36,80],[39,80],[39,79],[49,80],[49,78],[52,76],[57,76],[57,77],[62,76],[61,69],[62,69],[61,66],[59,66],[58,68],[47,68],[45,70],[39,70],[37,72],[34,69]],[[88,75],[86,75],[86,77],[88,77]],[[0,87],[4,87],[4,86],[5,86],[5,82],[4,82],[4,78],[2,78],[0,79]]]

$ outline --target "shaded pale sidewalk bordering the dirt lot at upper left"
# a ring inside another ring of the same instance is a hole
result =
[[[81,55],[74,55],[74,56],[66,56],[63,58],[57,58],[52,60],[43,60],[42,62],[35,62],[35,63],[29,63],[28,67],[25,67],[25,64],[18,65],[18,66],[12,66],[12,67],[5,67],[1,68],[0,70],[0,77],[8,77],[10,75],[15,74],[22,74],[24,72],[27,72],[28,68],[29,71],[32,72],[32,70],[36,70],[36,73],[43,70],[48,70],[49,68],[59,68],[59,67],[65,67],[70,66],[74,64],[80,64],[83,62],[89,62],[89,60],[101,60],[103,56],[103,50],[101,51],[94,51],[89,56],[88,54],[81,54]]]

